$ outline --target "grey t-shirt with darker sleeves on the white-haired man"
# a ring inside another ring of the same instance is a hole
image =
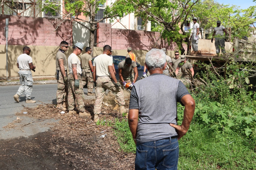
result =
[[[170,88],[171,87],[171,88]],[[177,136],[177,102],[189,94],[185,85],[164,74],[152,74],[137,81],[131,91],[129,109],[139,110],[138,142]]]

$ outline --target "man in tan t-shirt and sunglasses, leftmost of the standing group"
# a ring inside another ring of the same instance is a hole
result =
[[[68,43],[62,41],[60,49],[56,54],[56,72],[58,89],[56,92],[57,109],[66,110],[68,108],[68,77],[67,77],[67,58],[65,52],[68,50]],[[63,102],[63,105],[62,105]]]

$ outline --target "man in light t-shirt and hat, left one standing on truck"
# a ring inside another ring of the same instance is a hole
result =
[[[193,32],[192,35],[190,36],[192,40],[192,48],[194,50],[194,54],[191,56],[197,56],[198,53],[198,34],[199,34],[199,24],[197,23],[197,18],[194,17],[193,19],[194,25],[193,25]]]

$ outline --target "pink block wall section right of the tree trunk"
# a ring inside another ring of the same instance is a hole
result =
[[[157,43],[160,33],[151,31],[111,29],[111,24],[98,23],[97,27],[97,47],[110,45],[112,49],[127,49],[132,47],[134,50],[151,50],[152,48],[166,48],[167,50],[178,50],[174,42],[165,43],[162,39]],[[186,45],[184,48],[187,49]]]

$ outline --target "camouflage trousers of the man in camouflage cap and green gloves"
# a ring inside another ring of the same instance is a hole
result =
[[[84,102],[83,102],[83,85],[81,83],[81,76],[77,75],[79,80],[79,88],[75,87],[75,79],[74,75],[68,75],[68,110],[74,110],[74,106],[76,103],[76,107],[79,112],[84,112]]]

